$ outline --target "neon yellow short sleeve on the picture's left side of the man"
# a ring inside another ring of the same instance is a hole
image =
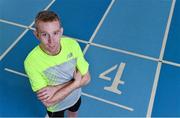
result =
[[[25,61],[24,63],[26,74],[29,77],[29,81],[34,92],[46,87],[47,80],[43,77],[43,75],[37,70],[36,67],[33,67],[32,64],[29,64]]]

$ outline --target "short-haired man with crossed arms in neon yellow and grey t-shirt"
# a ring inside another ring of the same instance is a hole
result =
[[[76,117],[81,87],[90,81],[89,64],[75,40],[61,37],[63,28],[54,12],[39,12],[35,29],[40,44],[24,61],[32,89],[50,117],[64,117],[66,110],[68,117]]]

